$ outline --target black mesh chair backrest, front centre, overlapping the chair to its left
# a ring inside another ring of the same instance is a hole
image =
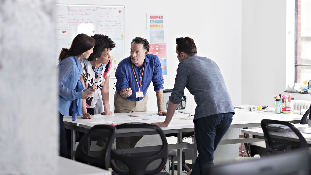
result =
[[[166,165],[168,144],[160,127],[145,123],[117,125],[111,168],[118,174],[150,175]]]

